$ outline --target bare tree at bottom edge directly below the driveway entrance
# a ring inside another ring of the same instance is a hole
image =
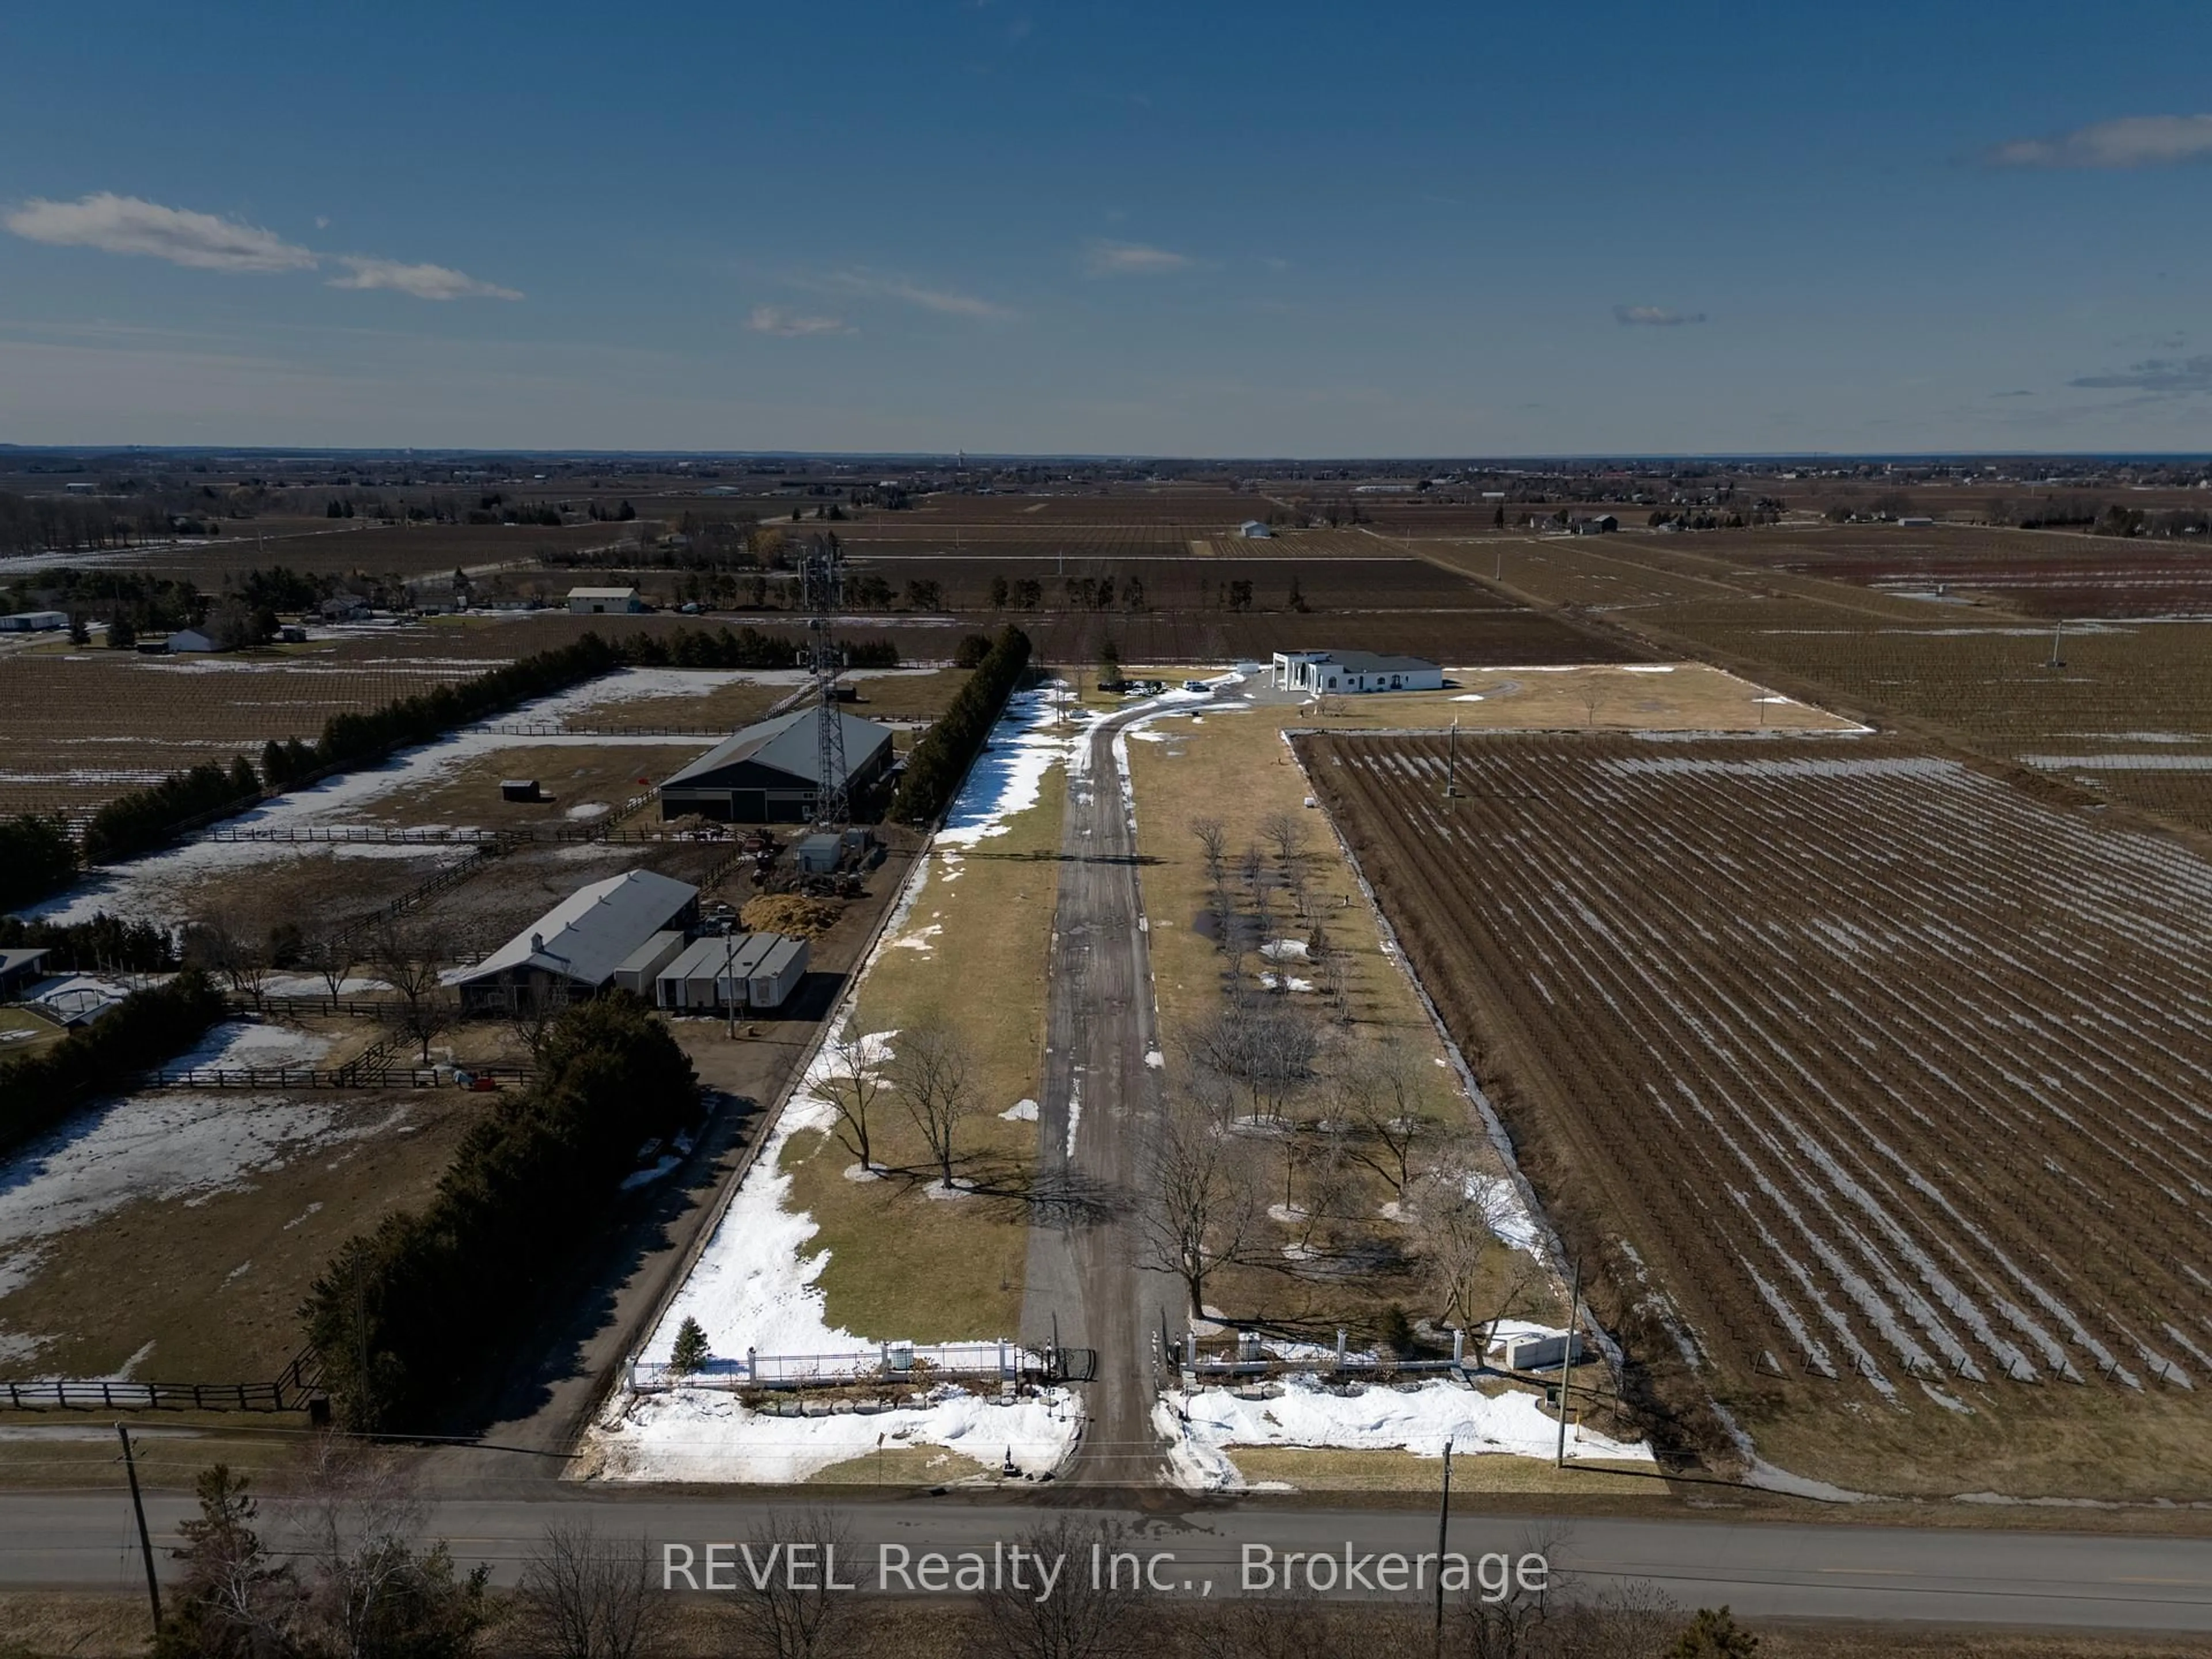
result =
[[[1084,1526],[1062,1515],[1031,1531],[1015,1551],[1024,1586],[1002,1582],[975,1597],[991,1652],[1004,1659],[1124,1659],[1155,1650],[1148,1590],[1135,1571],[1139,1557],[1119,1522]],[[1115,1568],[1102,1568],[1095,1582],[1093,1551]],[[1040,1595],[1046,1573],[1053,1586]]]

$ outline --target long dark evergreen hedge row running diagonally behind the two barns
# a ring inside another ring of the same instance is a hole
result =
[[[270,739],[261,750],[259,774],[241,754],[228,770],[208,761],[117,796],[93,814],[84,832],[84,858],[113,863],[153,852],[195,823],[257,805],[263,785],[288,790],[325,772],[376,765],[398,750],[431,743],[460,726],[553,697],[615,668],[792,668],[799,650],[801,641],[759,628],[677,628],[668,635],[635,635],[622,644],[588,633],[571,646],[518,657],[476,679],[396,697],[367,714],[332,714],[314,743]],[[898,646],[889,639],[856,639],[845,659],[852,668],[898,668]],[[71,874],[73,867],[49,876],[46,887],[24,885],[0,909],[46,898],[66,887]]]

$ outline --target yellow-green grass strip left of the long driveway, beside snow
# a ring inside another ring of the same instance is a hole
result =
[[[1037,1126],[1000,1113],[1040,1086],[1064,801],[1066,774],[1053,768],[1037,803],[1006,818],[1006,834],[931,852],[914,911],[858,995],[858,1031],[940,1018],[967,1040],[975,1110],[960,1148],[982,1192],[922,1192],[936,1177],[898,1091],[876,1102],[872,1150],[911,1177],[847,1181],[852,1152],[827,1135],[785,1148],[790,1203],[821,1223],[816,1245],[830,1250],[818,1281],[830,1321],[856,1336],[960,1340],[1020,1329],[1029,1250],[1020,1190],[1035,1166]]]

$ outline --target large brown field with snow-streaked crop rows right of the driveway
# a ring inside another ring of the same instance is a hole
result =
[[[1891,739],[1298,752],[1683,1449],[2212,1495],[2212,865]]]

